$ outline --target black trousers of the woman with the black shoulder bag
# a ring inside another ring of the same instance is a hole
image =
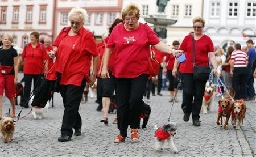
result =
[[[183,102],[185,105],[185,113],[191,114],[193,120],[199,120],[200,110],[202,107],[202,99],[204,96],[204,88],[207,80],[194,80],[193,73],[183,73],[184,94]]]

